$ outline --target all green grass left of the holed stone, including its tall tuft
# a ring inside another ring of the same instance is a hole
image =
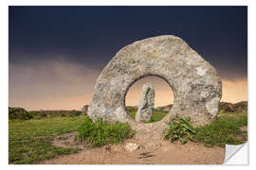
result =
[[[52,145],[55,136],[78,130],[78,139],[95,146],[117,144],[135,132],[128,124],[93,124],[88,116],[9,120],[9,164],[32,164],[58,155],[76,153],[76,147]],[[63,139],[59,139],[63,140]]]

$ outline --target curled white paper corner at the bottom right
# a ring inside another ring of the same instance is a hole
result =
[[[225,161],[223,164],[248,164],[247,143],[226,144]]]

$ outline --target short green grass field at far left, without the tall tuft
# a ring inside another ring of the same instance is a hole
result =
[[[9,120],[9,163],[31,164],[70,154],[78,148],[63,148],[51,144],[55,135],[77,130],[87,116],[44,119]]]

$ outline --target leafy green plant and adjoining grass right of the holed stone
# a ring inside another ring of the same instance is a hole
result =
[[[227,116],[221,116],[209,125],[195,128],[190,125],[189,117],[175,117],[164,131],[164,138],[171,142],[179,141],[181,144],[192,141],[204,143],[206,146],[244,144],[247,141],[247,131],[240,127],[247,126],[247,115],[237,112],[234,114],[239,116],[226,114]]]

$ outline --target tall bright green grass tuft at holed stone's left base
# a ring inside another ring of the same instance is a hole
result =
[[[87,118],[88,119],[88,118]],[[125,139],[132,138],[135,131],[128,124],[114,123],[108,124],[103,120],[93,123],[88,119],[81,127],[78,128],[77,141],[93,146],[104,144],[118,144]]]

